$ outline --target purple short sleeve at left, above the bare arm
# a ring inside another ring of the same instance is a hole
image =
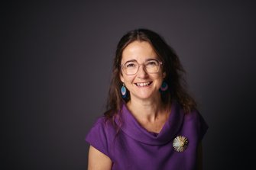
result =
[[[108,139],[104,117],[100,117],[86,135],[86,142],[109,156]]]

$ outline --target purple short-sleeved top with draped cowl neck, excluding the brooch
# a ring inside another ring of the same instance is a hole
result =
[[[122,126],[117,133],[111,121],[100,117],[86,136],[86,141],[112,159],[112,169],[195,169],[196,151],[208,126],[197,111],[184,114],[177,102],[171,106],[171,114],[160,133],[148,132],[141,127],[125,104],[118,113]],[[118,119],[115,119],[120,124]],[[186,149],[178,152],[173,140],[185,136]]]

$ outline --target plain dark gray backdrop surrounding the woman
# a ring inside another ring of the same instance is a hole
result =
[[[2,5],[2,169],[86,169],[115,46],[157,31],[177,51],[209,124],[205,169],[254,168],[253,1],[9,2]]]

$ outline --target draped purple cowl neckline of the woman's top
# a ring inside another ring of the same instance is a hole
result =
[[[115,118],[115,122],[120,125],[120,129],[132,139],[148,145],[163,145],[173,140],[183,123],[184,112],[180,105],[173,101],[171,104],[170,116],[164,123],[160,133],[147,131],[138,123],[138,120],[128,110],[126,104],[122,104],[121,111],[118,112],[120,119]]]

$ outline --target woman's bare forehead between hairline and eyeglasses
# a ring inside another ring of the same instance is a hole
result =
[[[129,43],[122,52],[122,63],[128,60],[136,60],[140,63],[148,59],[157,59],[157,53],[147,41],[134,41]]]

